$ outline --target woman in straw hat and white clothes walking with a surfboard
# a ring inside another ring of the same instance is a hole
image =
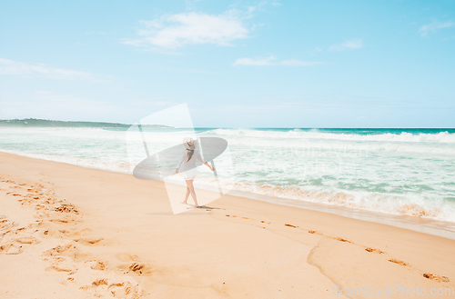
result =
[[[187,183],[187,195],[185,196],[185,200],[182,204],[187,204],[188,196],[191,193],[191,197],[193,197],[193,200],[195,201],[195,206],[199,207],[199,204],[197,204],[195,187],[193,185],[193,181],[197,174],[196,161],[199,160],[203,164],[206,164],[211,171],[214,171],[214,169],[211,165],[202,160],[198,151],[195,153],[196,145],[192,138],[185,138],[183,140],[183,145],[185,145],[187,151],[180,158],[176,169],[176,174],[182,174],[185,179],[185,183]]]

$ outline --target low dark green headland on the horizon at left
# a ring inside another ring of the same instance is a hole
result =
[[[127,128],[130,125],[118,123],[100,123],[100,122],[72,122],[72,121],[55,121],[49,119],[24,118],[24,119],[3,119],[0,120],[0,127],[93,127],[93,128]],[[142,125],[143,127],[154,128],[171,128],[167,125]]]

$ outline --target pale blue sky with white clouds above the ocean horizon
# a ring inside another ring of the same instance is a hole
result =
[[[454,1],[0,0],[0,118],[455,127]]]

